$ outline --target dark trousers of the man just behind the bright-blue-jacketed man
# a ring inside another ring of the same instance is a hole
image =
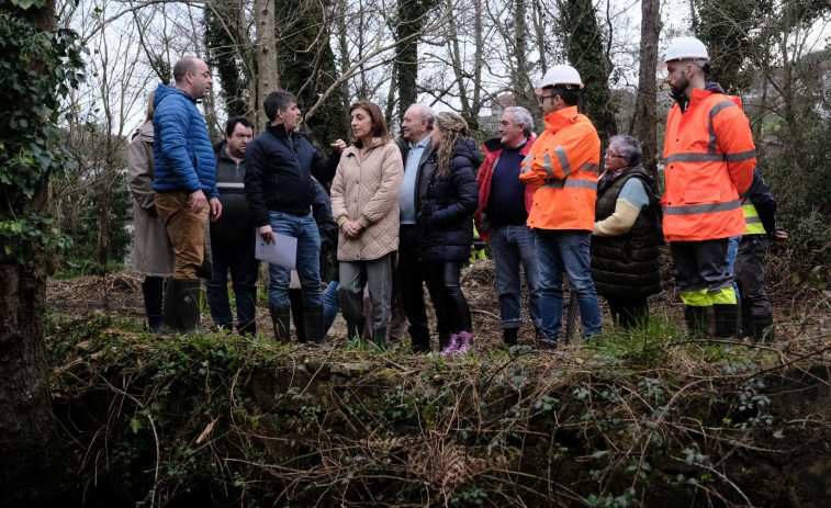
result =
[[[205,279],[211,317],[217,325],[231,325],[234,316],[228,304],[228,270],[237,302],[237,323],[245,325],[256,319],[257,272],[259,261],[254,258],[254,238],[247,244],[211,242],[213,276]]]

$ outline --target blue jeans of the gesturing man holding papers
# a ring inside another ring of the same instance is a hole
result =
[[[282,212],[268,213],[271,229],[297,239],[297,276],[303,290],[303,305],[323,305],[321,298],[321,235],[312,213],[300,217]],[[268,303],[289,306],[291,270],[269,263]]]

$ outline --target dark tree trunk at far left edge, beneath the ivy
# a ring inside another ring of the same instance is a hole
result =
[[[55,0],[25,12],[38,30],[55,27]],[[33,68],[38,63],[31,64]],[[24,203],[45,212],[48,176]],[[19,210],[20,210],[19,208]],[[0,264],[0,492],[3,506],[54,506],[61,485],[61,445],[52,416],[44,342],[46,261]]]

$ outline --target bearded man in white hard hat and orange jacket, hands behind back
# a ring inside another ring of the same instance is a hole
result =
[[[709,56],[697,38],[673,39],[659,67],[676,101],[666,122],[661,200],[675,284],[690,331],[730,337],[739,309],[727,250],[745,228],[741,199],[756,165],[750,122],[738,98],[706,82]]]

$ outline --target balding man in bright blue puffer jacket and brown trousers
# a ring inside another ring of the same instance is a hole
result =
[[[176,84],[159,84],[153,105],[156,210],[176,252],[173,279],[165,298],[165,323],[177,331],[199,328],[200,281],[205,222],[222,214],[216,160],[196,101],[211,91],[211,71],[194,57],[173,66]]]

